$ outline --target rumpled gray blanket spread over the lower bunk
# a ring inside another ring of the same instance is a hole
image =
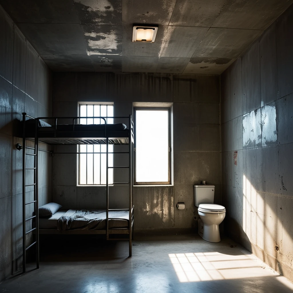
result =
[[[110,219],[114,218],[114,219]],[[110,211],[109,229],[128,228],[128,211]],[[105,210],[76,210],[69,209],[58,219],[57,229],[65,230],[103,230],[106,229],[106,211]]]

